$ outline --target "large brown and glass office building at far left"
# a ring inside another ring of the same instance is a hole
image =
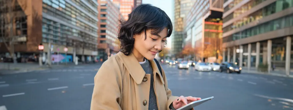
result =
[[[39,54],[40,44],[44,45],[44,56],[50,51],[52,54],[67,53],[60,62],[73,61],[74,56],[81,61],[90,61],[97,55],[97,1],[1,0],[0,5],[8,1],[16,4],[13,36],[18,36],[14,49],[18,57],[35,57]],[[7,7],[0,6],[0,10],[3,18],[8,12]],[[2,35],[8,36],[8,31]],[[7,52],[4,46],[1,46],[1,52]]]

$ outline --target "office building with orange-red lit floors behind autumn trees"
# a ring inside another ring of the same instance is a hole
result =
[[[193,48],[195,60],[218,58],[222,50],[222,4],[223,0],[198,0],[186,15],[185,47]]]

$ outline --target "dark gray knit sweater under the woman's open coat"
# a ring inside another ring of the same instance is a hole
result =
[[[146,74],[151,74],[151,88],[149,91],[149,110],[158,110],[157,98],[154,90],[153,67],[151,67],[151,63],[149,62],[149,60],[145,60],[146,62],[140,65],[142,66]]]

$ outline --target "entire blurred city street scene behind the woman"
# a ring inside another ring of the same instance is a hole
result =
[[[89,109],[118,20],[144,3],[173,23],[156,55],[173,95],[293,109],[293,0],[0,0],[0,110]]]

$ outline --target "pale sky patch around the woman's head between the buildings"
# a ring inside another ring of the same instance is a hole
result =
[[[152,4],[153,6],[156,6],[169,16],[172,23],[174,22],[174,0],[142,0],[143,4]],[[167,38],[167,48],[171,48],[172,43],[172,36]]]

